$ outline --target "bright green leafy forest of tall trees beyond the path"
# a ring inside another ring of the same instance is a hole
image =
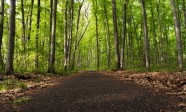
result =
[[[185,32],[185,0],[1,0],[0,71],[183,71]]]

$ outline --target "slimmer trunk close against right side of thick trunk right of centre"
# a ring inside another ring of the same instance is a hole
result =
[[[123,36],[121,42],[121,60],[120,60],[120,68],[124,69],[124,53],[125,53],[125,38],[126,38],[126,20],[127,20],[127,0],[124,0],[123,6]]]

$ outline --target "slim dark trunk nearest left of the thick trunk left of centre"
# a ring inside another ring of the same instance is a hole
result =
[[[41,5],[41,2],[40,0],[37,1],[38,4],[37,4],[37,24],[36,24],[36,38],[35,38],[35,45],[36,45],[36,57],[35,57],[35,69],[38,70],[38,67],[39,67],[39,28],[40,28],[40,5]]]

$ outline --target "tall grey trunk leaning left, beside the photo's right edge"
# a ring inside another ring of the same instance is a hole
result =
[[[177,12],[175,8],[175,1],[170,0],[172,6],[172,13],[174,16],[174,24],[175,24],[175,34],[176,34],[176,42],[177,42],[177,51],[178,51],[178,65],[179,70],[183,70],[183,54],[182,54],[182,43],[181,43],[181,31],[180,31],[180,24],[177,17]]]

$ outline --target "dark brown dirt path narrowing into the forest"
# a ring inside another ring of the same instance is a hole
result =
[[[58,86],[31,95],[21,112],[183,111],[181,99],[157,93],[132,82],[97,72],[86,72]]]

